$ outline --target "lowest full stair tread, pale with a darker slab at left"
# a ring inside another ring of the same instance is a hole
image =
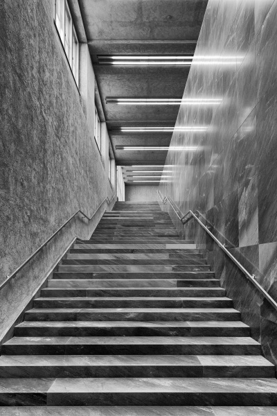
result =
[[[244,394],[274,393],[277,391],[276,379],[233,379],[233,378],[149,378],[149,379],[0,379],[0,395],[7,393],[43,392],[55,394],[74,393],[132,393],[132,392],[179,392],[204,393],[238,392]]]

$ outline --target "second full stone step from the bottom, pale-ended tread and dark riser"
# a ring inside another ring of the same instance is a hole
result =
[[[275,367],[262,356],[21,355],[0,357],[0,379],[91,377],[261,377]]]

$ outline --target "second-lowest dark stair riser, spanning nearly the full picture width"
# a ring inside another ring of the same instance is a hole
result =
[[[1,366],[0,379],[9,378],[118,378],[118,377],[274,377],[273,367],[207,367],[203,365],[113,365],[113,366],[90,366],[90,365],[52,365],[52,366],[20,366],[3,367]]]

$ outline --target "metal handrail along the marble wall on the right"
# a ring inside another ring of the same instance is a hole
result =
[[[157,191],[158,192],[158,191]],[[161,198],[162,196],[160,196]],[[170,202],[170,200],[168,199],[168,197],[165,197],[166,200],[168,200],[168,202]],[[163,198],[164,199],[164,198]],[[173,205],[170,203],[170,205],[172,206],[172,208],[174,209],[175,213],[177,214],[177,211],[175,210],[175,208],[173,207]],[[180,211],[180,210],[179,210]],[[181,211],[180,211],[181,212]],[[177,214],[179,220],[181,220],[181,223],[183,223],[183,219],[188,216],[191,215],[190,218],[194,218],[195,220],[197,220],[197,223],[199,223],[199,225],[201,225],[202,228],[204,228],[204,230],[208,233],[209,236],[211,236],[211,238],[215,241],[215,243],[217,243],[217,245],[220,246],[220,248],[224,251],[224,253],[235,263],[236,266],[238,266],[238,268],[244,273],[244,275],[247,277],[247,279],[249,279],[253,285],[258,289],[258,291],[262,294],[263,297],[265,297],[265,299],[272,305],[274,306],[274,308],[277,311],[277,303],[275,302],[275,300],[269,295],[269,293],[267,293],[267,291],[265,291],[264,288],[262,288],[262,286],[260,286],[260,284],[258,284],[258,281],[256,281],[256,277],[255,275],[251,275],[246,268],[244,268],[242,266],[242,264],[240,263],[240,261],[238,261],[233,254],[231,254],[231,252],[229,252],[229,250],[226,249],[226,247],[220,243],[219,240],[217,240],[217,238],[213,235],[213,233],[208,229],[208,227],[206,225],[204,225],[202,223],[201,220],[199,220],[199,218],[197,218],[197,216],[193,213],[193,211],[188,211],[188,213],[186,215],[184,215],[182,218]],[[190,219],[188,218],[188,219]],[[184,224],[184,223],[183,223]]]

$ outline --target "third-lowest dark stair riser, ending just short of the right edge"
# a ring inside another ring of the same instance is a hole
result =
[[[259,355],[260,345],[6,345],[6,355]]]

